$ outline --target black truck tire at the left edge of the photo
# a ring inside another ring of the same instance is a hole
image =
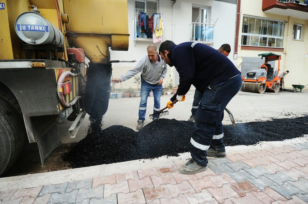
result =
[[[20,155],[24,143],[18,114],[0,98],[0,175],[5,173]]]

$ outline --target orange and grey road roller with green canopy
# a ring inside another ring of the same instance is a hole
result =
[[[280,87],[280,58],[281,56],[275,53],[263,53],[258,54],[265,58],[264,64],[258,69],[251,70],[242,76],[242,87],[241,91],[253,92],[253,93],[264,93],[266,90],[269,92],[277,93]],[[278,68],[272,67],[267,62],[278,60]]]

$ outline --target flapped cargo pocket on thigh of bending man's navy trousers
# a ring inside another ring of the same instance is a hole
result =
[[[220,104],[202,103],[201,108],[202,110],[199,112],[199,116],[197,116],[199,122],[214,124],[220,111]]]

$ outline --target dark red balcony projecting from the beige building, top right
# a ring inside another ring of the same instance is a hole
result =
[[[266,13],[308,20],[307,0],[262,0],[262,10]]]

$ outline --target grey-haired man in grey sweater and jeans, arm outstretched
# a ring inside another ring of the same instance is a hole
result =
[[[130,79],[141,72],[141,100],[139,105],[139,118],[136,129],[143,127],[145,113],[147,110],[147,100],[149,93],[153,91],[154,108],[153,113],[160,110],[160,96],[163,91],[163,79],[166,77],[167,64],[161,59],[155,45],[149,45],[148,55],[141,58],[134,69],[129,70],[120,78],[113,78],[111,82],[119,83]],[[153,116],[153,120],[159,118],[159,114]]]

